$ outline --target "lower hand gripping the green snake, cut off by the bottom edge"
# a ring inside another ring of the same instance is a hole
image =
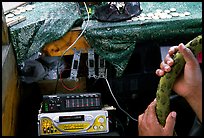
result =
[[[167,116],[166,124],[163,127],[158,122],[156,116],[156,100],[154,100],[138,117],[139,136],[173,136],[176,122],[176,112],[171,112]]]

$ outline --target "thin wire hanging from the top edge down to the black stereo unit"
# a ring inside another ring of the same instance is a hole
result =
[[[76,44],[76,42],[79,40],[79,38],[83,35],[84,31],[86,30],[88,24],[89,24],[89,12],[88,12],[88,8],[87,8],[87,5],[86,5],[86,2],[83,2],[84,3],[84,6],[86,8],[86,12],[87,12],[87,15],[88,15],[88,19],[87,19],[87,23],[86,23],[86,26],[84,27],[84,29],[82,30],[82,32],[80,33],[80,35],[77,37],[77,39],[74,41],[74,43],[71,44],[71,46],[69,46],[64,52],[63,54],[61,55],[60,59],[58,60],[58,64],[57,64],[57,82],[56,82],[56,85],[55,85],[55,93],[57,91],[57,86],[58,86],[58,81],[59,81],[59,77],[58,77],[58,74],[59,74],[59,63],[60,61],[62,60],[63,56],[65,55],[65,53],[71,49],[71,47],[73,47],[73,45]]]

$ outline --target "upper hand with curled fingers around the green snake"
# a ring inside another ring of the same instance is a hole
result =
[[[195,92],[202,91],[202,74],[196,57],[190,49],[184,46],[184,44],[181,43],[169,49],[164,61],[160,64],[160,69],[156,70],[156,74],[158,76],[163,76],[165,72],[171,71],[171,66],[174,64],[172,56],[177,51],[183,55],[186,64],[184,73],[176,79],[173,90],[184,98],[191,97]]]

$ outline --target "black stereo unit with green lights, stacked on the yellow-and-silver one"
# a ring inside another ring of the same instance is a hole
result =
[[[100,93],[44,95],[42,113],[102,109]]]

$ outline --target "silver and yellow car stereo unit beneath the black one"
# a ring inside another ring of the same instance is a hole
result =
[[[108,112],[104,110],[38,114],[39,136],[73,136],[108,132]]]

